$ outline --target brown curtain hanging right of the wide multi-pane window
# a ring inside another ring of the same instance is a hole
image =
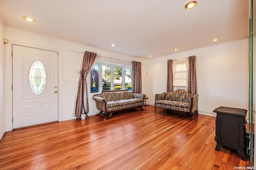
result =
[[[142,93],[141,86],[141,62],[132,61],[132,91]]]

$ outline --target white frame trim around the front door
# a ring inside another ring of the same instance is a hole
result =
[[[12,45],[20,45],[24,47],[32,47],[37,49],[44,49],[48,51],[58,52],[58,121],[62,121],[62,49],[42,47],[27,43],[15,42],[9,40],[6,44],[5,55],[5,71],[6,71],[6,85],[5,85],[5,131],[12,131]]]

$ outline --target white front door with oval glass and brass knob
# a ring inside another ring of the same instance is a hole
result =
[[[58,121],[58,52],[12,45],[13,128]]]

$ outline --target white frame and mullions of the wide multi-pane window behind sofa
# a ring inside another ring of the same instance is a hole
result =
[[[104,62],[104,61],[98,61],[97,63],[99,65],[99,70],[98,70],[98,82],[101,82],[102,80],[102,65],[106,65],[106,66],[110,66],[110,90],[114,90],[114,67],[121,67],[122,68],[122,90],[125,90],[125,69],[130,69],[129,65],[124,65],[124,64],[117,64],[117,63],[108,63],[108,62]],[[91,81],[91,74],[89,77],[89,81]],[[88,84],[91,84],[91,82],[88,82]],[[98,85],[98,90],[99,92],[96,93],[91,93],[91,87],[88,87],[88,92],[90,93],[90,95],[95,95],[95,94],[99,94],[102,92],[102,83],[99,83]]]

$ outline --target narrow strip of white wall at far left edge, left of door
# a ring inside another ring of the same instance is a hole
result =
[[[0,139],[5,132],[4,122],[4,23],[0,15]]]

